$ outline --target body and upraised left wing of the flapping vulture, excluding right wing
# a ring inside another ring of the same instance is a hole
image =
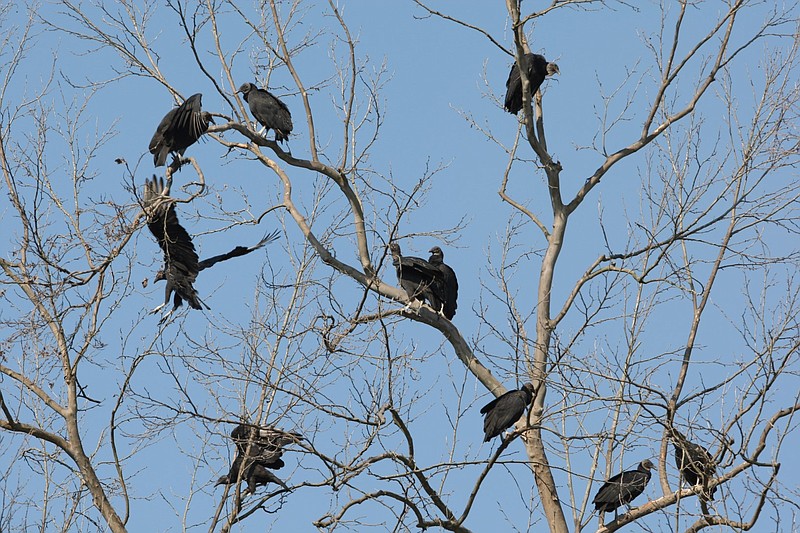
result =
[[[164,303],[153,309],[156,313],[169,303],[175,293],[175,306],[172,311],[186,300],[192,309],[202,309],[205,305],[194,290],[194,280],[200,271],[197,252],[191,237],[178,222],[175,214],[175,202],[169,197],[164,187],[164,179],[153,176],[145,180],[143,204],[147,215],[147,227],[164,251],[163,278],[167,280]],[[205,306],[208,309],[208,306]],[[164,319],[169,316],[170,311]],[[162,320],[164,320],[162,319]]]

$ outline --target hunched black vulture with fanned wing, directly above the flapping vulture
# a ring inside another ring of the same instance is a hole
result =
[[[208,131],[208,124],[214,122],[214,119],[211,118],[211,113],[201,109],[202,98],[200,93],[193,94],[178,107],[170,109],[161,119],[150,139],[150,153],[153,154],[155,166],[163,166],[167,161],[167,154],[171,152],[182,156],[187,148]]]

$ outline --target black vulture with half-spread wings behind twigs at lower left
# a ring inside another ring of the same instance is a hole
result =
[[[298,433],[287,433],[275,428],[260,428],[239,424],[231,432],[236,445],[236,458],[227,475],[217,480],[217,485],[230,485],[237,480],[247,483],[247,492],[255,492],[258,485],[275,483],[285,490],[289,487],[268,469],[285,466],[281,456],[283,447],[303,438]]]

